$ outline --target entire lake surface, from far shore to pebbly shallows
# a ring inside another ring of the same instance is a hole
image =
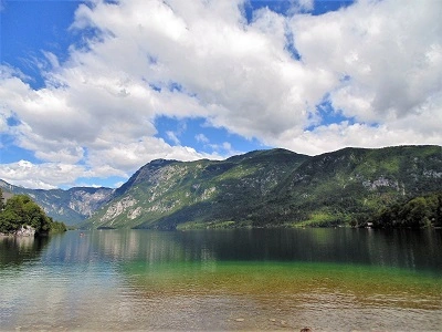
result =
[[[0,330],[441,331],[442,231],[0,238]]]

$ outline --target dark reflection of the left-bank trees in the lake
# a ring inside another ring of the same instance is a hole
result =
[[[0,237],[0,268],[36,260],[49,241],[49,237]]]

